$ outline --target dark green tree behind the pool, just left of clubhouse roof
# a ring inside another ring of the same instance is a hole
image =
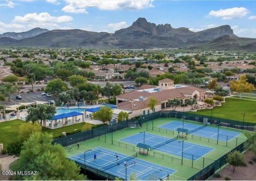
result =
[[[112,98],[121,94],[123,91],[122,87],[118,84],[112,85],[109,82],[106,83],[106,86],[101,88],[101,95],[106,96],[110,102]]]

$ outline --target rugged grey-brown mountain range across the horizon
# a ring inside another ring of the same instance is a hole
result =
[[[188,28],[173,28],[170,24],[156,25],[145,18],[139,18],[130,27],[115,33],[79,29],[49,31],[41,28],[20,33],[3,33],[0,35],[0,46],[255,50],[256,39],[234,35],[229,25],[193,32]]]

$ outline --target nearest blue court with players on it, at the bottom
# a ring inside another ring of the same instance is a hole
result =
[[[94,153],[97,159],[94,160]],[[125,166],[124,161],[127,162],[127,179],[131,174],[136,174],[135,178],[139,180],[159,180],[159,178],[164,179],[167,174],[171,176],[177,170],[162,167],[154,163],[144,161],[138,158],[137,153],[131,156],[127,156],[122,153],[117,153],[118,159],[115,155],[116,152],[105,149],[105,148],[95,148],[92,151],[87,151],[85,155],[86,165],[95,169],[99,169],[108,173],[110,175],[120,177],[125,180]],[[84,165],[84,153],[81,152],[76,156],[71,156],[69,159],[76,162],[82,163]],[[135,164],[134,164],[135,159]]]

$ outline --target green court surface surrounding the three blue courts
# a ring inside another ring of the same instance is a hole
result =
[[[79,149],[77,149],[76,144],[73,144],[71,145],[73,149],[71,149],[71,151],[68,151],[68,146],[67,146],[65,148],[67,157],[75,156],[76,154],[81,154],[86,150],[93,149],[98,146],[109,149],[109,150],[113,150],[119,153],[131,155],[134,152],[138,152],[139,148],[137,148],[136,145],[134,144],[122,142],[120,141],[121,139],[124,139],[125,137],[131,136],[146,130],[148,130],[147,133],[150,133],[150,134],[172,138],[173,136],[177,135],[178,132],[171,131],[171,130],[164,130],[162,128],[158,128],[158,126],[166,123],[170,123],[174,120],[182,122],[181,119],[177,119],[177,118],[158,118],[155,120],[151,120],[147,123],[142,123],[142,126],[139,128],[124,128],[123,130],[116,131],[113,134],[111,133],[103,134],[101,136],[94,137],[94,139],[80,142]],[[188,120],[185,120],[185,122],[201,125],[200,123],[191,122]],[[211,125],[209,125],[209,127],[217,128],[216,126],[211,126]],[[208,154],[205,154],[203,157],[197,160],[184,158],[182,161],[183,163],[181,165],[181,157],[175,156],[173,154],[163,153],[157,150],[149,151],[148,155],[138,153],[138,158],[155,163],[157,165],[161,165],[164,167],[177,170],[176,173],[170,176],[169,178],[170,180],[187,180],[194,174],[198,173],[198,171],[209,166],[215,160],[218,160],[220,157],[224,156],[226,153],[233,150],[236,147],[236,145],[239,145],[246,141],[246,136],[244,135],[244,131],[236,130],[233,128],[226,128],[226,127],[221,127],[221,129],[228,130],[228,131],[236,131],[241,134],[237,136],[237,139],[234,138],[229,142],[219,141],[218,144],[217,144],[217,140],[208,139],[206,137],[200,137],[195,135],[192,136],[192,134],[188,135],[188,139],[186,140],[187,143],[207,146],[213,149],[213,151],[211,151]],[[97,130],[94,130],[93,132],[95,135],[98,135],[97,133],[95,133],[97,132]],[[112,141],[112,137],[113,137],[113,141]],[[179,140],[183,140],[183,138],[179,138]]]

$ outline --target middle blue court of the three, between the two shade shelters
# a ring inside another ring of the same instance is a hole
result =
[[[137,145],[138,143],[144,142],[144,135],[143,133],[137,133],[132,136],[125,137],[124,139],[121,139],[121,141]],[[182,156],[182,142],[179,140],[145,133],[145,144],[150,145],[151,148],[157,151],[174,154],[178,157]],[[184,141],[183,158],[197,160],[212,150],[214,149]]]

